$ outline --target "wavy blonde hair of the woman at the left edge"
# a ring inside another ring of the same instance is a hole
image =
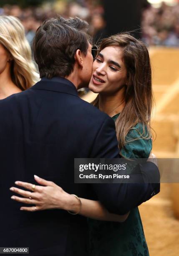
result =
[[[38,82],[39,75],[32,61],[30,45],[18,18],[0,16],[0,44],[10,53],[11,79],[20,90],[26,90]]]

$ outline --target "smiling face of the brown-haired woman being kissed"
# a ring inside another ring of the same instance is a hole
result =
[[[115,94],[127,82],[127,70],[121,48],[108,46],[93,62],[89,89],[95,93]]]

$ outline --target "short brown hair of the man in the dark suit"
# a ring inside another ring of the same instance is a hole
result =
[[[33,40],[35,62],[40,77],[66,77],[73,72],[79,49],[86,56],[88,23],[80,18],[51,18],[36,31]]]

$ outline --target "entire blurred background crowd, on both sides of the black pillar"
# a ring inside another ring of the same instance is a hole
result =
[[[85,4],[84,4],[85,3]],[[41,7],[21,9],[18,5],[5,5],[0,9],[0,15],[13,15],[23,23],[29,43],[35,35],[40,21],[54,17],[57,14],[78,16],[90,24],[89,33],[97,41],[100,36],[106,36],[106,21],[103,6],[91,1],[76,1],[73,3],[60,1],[53,6],[44,4]],[[179,3],[174,6],[161,4],[160,8],[149,6],[142,15],[142,39],[148,45],[179,46]]]

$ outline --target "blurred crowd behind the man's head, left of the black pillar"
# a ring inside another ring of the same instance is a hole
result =
[[[0,8],[0,15],[13,15],[21,20],[29,43],[32,42],[40,21],[55,17],[58,14],[64,17],[78,16],[87,20],[90,23],[89,33],[94,37],[101,29],[105,28],[102,6],[94,6],[91,3],[88,4],[88,2],[86,2],[86,5],[61,1],[56,5],[44,4],[41,7],[22,9],[18,5],[4,5],[3,8]]]

